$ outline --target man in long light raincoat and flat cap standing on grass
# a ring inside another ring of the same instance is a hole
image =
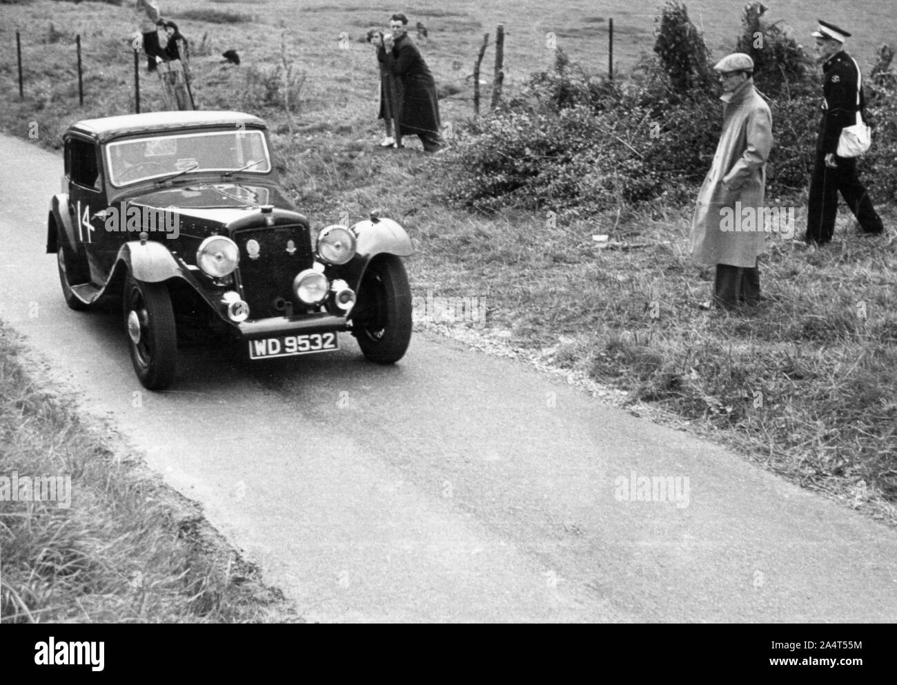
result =
[[[692,259],[715,265],[713,303],[734,309],[760,302],[757,256],[765,240],[763,195],[772,115],[753,87],[753,59],[742,52],[713,67],[723,95],[723,129],[694,210]]]

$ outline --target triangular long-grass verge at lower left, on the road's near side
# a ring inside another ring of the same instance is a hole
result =
[[[0,621],[300,620],[196,505],[108,443],[0,322],[0,494],[19,485],[18,501],[0,496]],[[63,479],[56,501],[24,500],[32,477]]]

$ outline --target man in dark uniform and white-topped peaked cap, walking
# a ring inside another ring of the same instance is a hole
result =
[[[823,60],[823,119],[816,140],[816,160],[810,180],[810,200],[806,217],[806,242],[824,245],[832,240],[838,191],[857,217],[863,233],[884,232],[872,200],[857,176],[856,158],[836,154],[841,128],[857,123],[857,111],[863,111],[863,93],[858,93],[860,78],[856,61],[844,52],[849,33],[834,24],[819,21],[813,32],[816,53]],[[859,101],[857,97],[859,95]]]

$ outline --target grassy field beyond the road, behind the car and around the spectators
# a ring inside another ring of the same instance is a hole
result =
[[[161,5],[163,13],[174,6]],[[618,66],[650,50],[658,6],[619,3],[606,10],[614,16]],[[721,55],[738,32],[743,3],[688,6]],[[440,101],[443,120],[453,126],[463,127],[471,115],[470,66],[495,22],[508,31],[509,88],[551,65],[546,31],[574,59],[605,69],[606,24],[599,21],[605,17],[593,3],[445,7],[416,3],[405,12],[413,25],[426,24],[430,38],[421,41],[422,52],[440,86],[455,91]],[[843,22],[858,36],[851,51],[868,62],[891,39],[897,20],[885,16],[884,2],[863,10],[854,21],[834,2],[772,7],[801,35],[812,31],[817,15]],[[705,312],[699,305],[708,299],[712,276],[688,258],[691,207],[619,206],[557,225],[545,215],[473,215],[440,200],[450,154],[424,156],[416,141],[401,153],[379,149],[377,66],[361,37],[393,11],[341,0],[301,9],[219,0],[179,3],[170,16],[184,17],[203,107],[248,110],[269,121],[283,185],[314,226],[344,211],[357,217],[382,208],[412,235],[414,294],[487,295],[486,328],[475,335],[491,347],[625,391],[633,411],[729,443],[804,487],[897,523],[894,208],[879,207],[890,227],[884,240],[859,238],[852,217],[841,215],[836,239],[824,250],[773,242],[761,263],[769,297],[761,309],[750,316]],[[16,92],[16,29],[23,31],[26,55],[26,97],[5,101],[4,131],[28,136],[37,122],[36,142],[53,148],[75,119],[133,110],[129,7],[39,0],[4,4],[4,16],[4,92]],[[76,32],[83,40],[83,108]],[[228,48],[239,50],[241,66],[222,65],[220,53]],[[489,52],[487,81],[491,60]],[[159,83],[141,66],[144,110],[160,109]],[[489,83],[484,88],[488,96]],[[45,202],[53,190],[35,201]],[[806,194],[768,201],[795,206],[802,229]],[[594,233],[609,234],[613,244],[599,247]],[[446,332],[474,335],[458,325]],[[21,417],[5,420],[10,430]]]

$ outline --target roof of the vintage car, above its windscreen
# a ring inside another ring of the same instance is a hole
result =
[[[111,138],[130,134],[170,131],[187,127],[236,126],[237,124],[264,127],[265,121],[243,112],[168,111],[125,114],[103,119],[83,119],[72,124],[68,130],[86,134],[97,138],[100,143],[104,143]]]

